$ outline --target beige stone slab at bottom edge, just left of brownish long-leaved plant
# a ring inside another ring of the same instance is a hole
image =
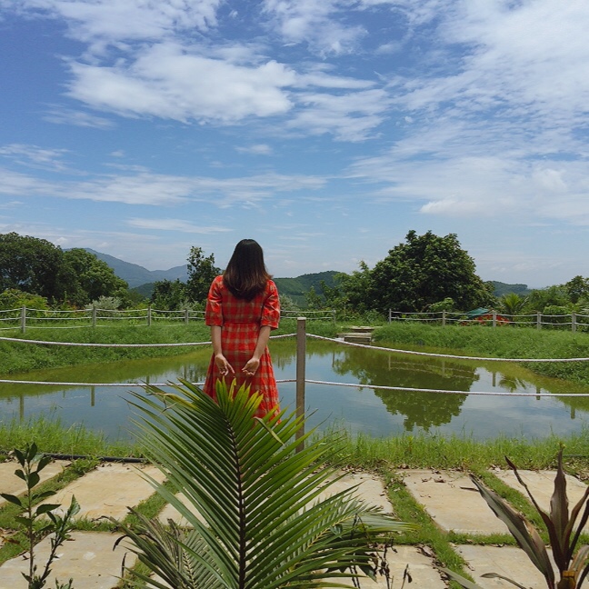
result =
[[[497,573],[514,579],[524,587],[545,587],[544,576],[532,564],[524,551],[517,546],[475,546],[464,544],[456,547],[469,564],[469,574],[484,589],[513,589],[514,585],[501,579],[486,579],[485,573]]]

